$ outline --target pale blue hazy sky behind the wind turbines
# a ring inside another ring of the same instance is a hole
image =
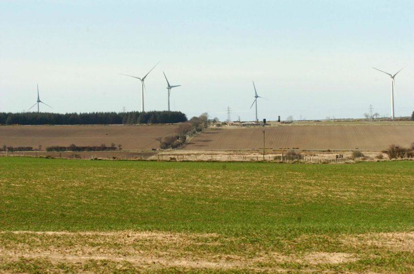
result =
[[[414,110],[414,1],[0,1],[0,112],[172,110],[254,120]],[[260,99],[260,98],[259,98]]]

